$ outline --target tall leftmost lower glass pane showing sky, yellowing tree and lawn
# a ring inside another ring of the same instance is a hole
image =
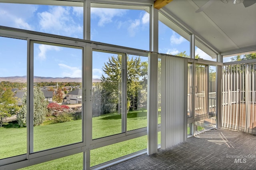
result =
[[[26,115],[22,106],[26,105],[27,41],[0,37],[0,42],[0,159],[3,159],[27,152],[26,123],[20,121],[24,118],[20,113]]]

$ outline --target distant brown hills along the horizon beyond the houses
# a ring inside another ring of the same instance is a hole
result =
[[[18,83],[26,83],[27,76],[14,76],[14,77],[0,77],[1,81],[10,81]],[[34,76],[34,82],[81,82],[82,78],[72,78],[72,77],[38,77]],[[100,79],[92,79],[92,82],[101,82]]]

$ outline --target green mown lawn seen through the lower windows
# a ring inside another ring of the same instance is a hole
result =
[[[134,130],[147,126],[146,111],[131,111],[127,115],[127,129]],[[159,116],[160,118],[160,116]],[[48,122],[47,122],[48,121]],[[51,120],[50,120],[51,121]],[[158,119],[160,122],[160,119]],[[93,138],[121,133],[121,115],[111,113],[92,118]],[[16,123],[7,123],[0,128],[0,159],[26,154],[26,130]],[[82,141],[82,121],[43,125],[34,127],[34,152]],[[160,143],[160,133],[158,133]],[[91,166],[145,149],[146,136],[91,150]],[[80,155],[80,156],[77,156]],[[108,156],[106,156],[108,155]],[[70,165],[72,164],[72,165]],[[71,155],[24,169],[81,169],[82,154]],[[72,166],[72,168],[70,168]]]

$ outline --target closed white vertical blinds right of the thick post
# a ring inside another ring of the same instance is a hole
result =
[[[187,59],[161,56],[162,149],[186,140],[187,69]]]

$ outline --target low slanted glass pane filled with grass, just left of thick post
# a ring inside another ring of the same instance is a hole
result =
[[[90,166],[95,166],[147,148],[147,136],[126,140],[90,151]]]

